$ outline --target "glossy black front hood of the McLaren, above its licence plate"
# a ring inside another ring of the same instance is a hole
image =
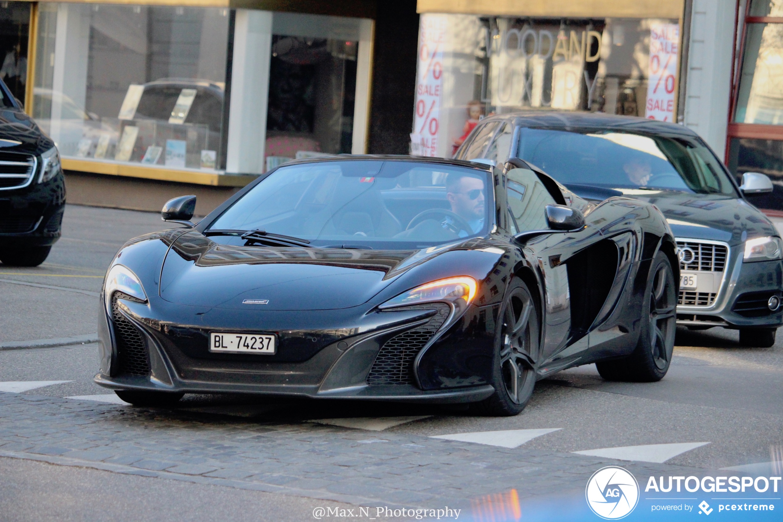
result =
[[[388,286],[393,279],[388,275],[399,274],[415,254],[417,250],[234,247],[188,232],[166,256],[161,297],[215,308],[349,308]]]

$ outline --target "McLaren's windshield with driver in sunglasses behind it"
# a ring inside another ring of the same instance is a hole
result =
[[[485,235],[488,186],[489,172],[447,164],[292,164],[254,186],[204,233],[236,244],[426,248]]]

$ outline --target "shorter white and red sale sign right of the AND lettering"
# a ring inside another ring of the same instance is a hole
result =
[[[646,115],[650,120],[675,121],[674,87],[677,83],[677,48],[680,26],[653,23],[650,27],[650,63]]]

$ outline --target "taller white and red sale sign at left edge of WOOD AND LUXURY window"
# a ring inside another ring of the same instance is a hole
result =
[[[441,15],[421,16],[416,114],[410,135],[410,153],[416,156],[437,156],[446,20]]]

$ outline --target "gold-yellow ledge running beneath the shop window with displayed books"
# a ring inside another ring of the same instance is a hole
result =
[[[194,185],[212,185],[218,187],[244,187],[252,182],[254,175],[225,175],[211,172],[179,171],[170,168],[146,167],[114,163],[109,161],[74,160],[63,158],[63,170],[90,172],[127,178],[154,179],[161,182],[193,183]]]

